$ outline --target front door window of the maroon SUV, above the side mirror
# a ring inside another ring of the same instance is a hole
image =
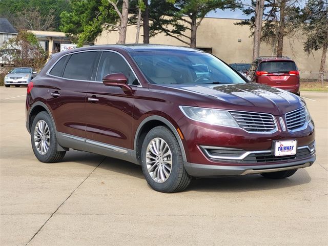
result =
[[[130,68],[124,58],[114,52],[104,52],[101,55],[96,80],[101,81],[105,75],[112,73],[123,73],[129,77],[129,72]]]

